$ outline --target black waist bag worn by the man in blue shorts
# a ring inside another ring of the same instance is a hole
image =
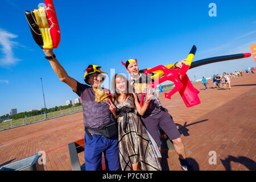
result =
[[[86,134],[88,135],[88,137],[90,139],[92,139],[92,135],[90,135],[88,129],[97,131],[105,138],[111,138],[111,137],[114,137],[115,135],[118,135],[117,122],[115,122],[115,121],[106,123],[105,125],[102,125],[102,126],[98,127],[97,129],[94,129],[92,127],[85,127]]]

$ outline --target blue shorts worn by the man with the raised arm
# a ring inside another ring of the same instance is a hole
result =
[[[105,156],[106,171],[119,169],[118,136],[105,138],[100,135],[92,135],[92,140],[85,133],[84,159],[86,171],[102,171],[102,152]]]

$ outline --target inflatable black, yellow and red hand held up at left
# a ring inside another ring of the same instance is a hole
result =
[[[60,43],[60,27],[52,0],[44,0],[46,7],[25,11],[28,25],[35,42],[42,49],[57,48]]]

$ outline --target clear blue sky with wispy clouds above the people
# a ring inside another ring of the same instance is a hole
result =
[[[24,17],[38,1],[1,1],[0,115],[74,102],[77,95],[59,80],[34,42]],[[61,31],[55,55],[68,75],[83,81],[89,64],[105,72],[126,73],[121,60],[138,59],[139,68],[185,59],[193,44],[194,60],[251,52],[256,43],[256,1],[60,1],[54,0]],[[217,16],[210,17],[210,3]],[[189,70],[191,80],[256,66],[253,57]]]

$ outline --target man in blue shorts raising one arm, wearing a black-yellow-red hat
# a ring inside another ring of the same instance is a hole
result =
[[[119,169],[118,136],[111,138],[104,137],[97,128],[112,122],[111,111],[109,110],[108,89],[101,89],[105,77],[101,73],[101,67],[90,64],[86,69],[84,81],[81,84],[74,78],[69,77],[65,69],[57,61],[52,49],[43,49],[46,59],[49,60],[53,71],[60,80],[71,87],[82,100],[85,126],[85,170],[101,171],[102,152],[105,156],[106,170],[116,171]],[[89,86],[90,85],[90,86]]]

